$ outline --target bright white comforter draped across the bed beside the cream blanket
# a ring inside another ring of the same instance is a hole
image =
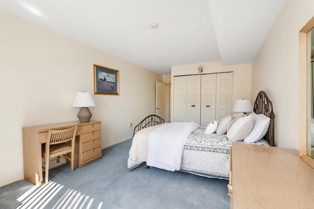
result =
[[[146,164],[170,171],[180,170],[185,141],[199,126],[195,122],[173,122],[152,131]]]

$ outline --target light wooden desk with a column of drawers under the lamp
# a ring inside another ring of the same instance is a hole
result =
[[[75,145],[75,166],[82,167],[102,157],[101,121],[71,121],[23,127],[24,179],[41,185],[43,181],[41,146],[46,143],[49,129],[78,126]],[[70,172],[70,170],[69,170]]]

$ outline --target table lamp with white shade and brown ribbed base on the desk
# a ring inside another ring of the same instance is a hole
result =
[[[81,122],[87,122],[92,117],[88,107],[96,106],[93,96],[89,92],[78,92],[75,94],[72,107],[80,107],[78,119]]]

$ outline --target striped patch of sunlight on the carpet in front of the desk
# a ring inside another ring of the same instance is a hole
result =
[[[17,199],[21,202],[17,209],[45,209],[62,188],[62,185],[53,181],[42,186],[33,186]],[[50,205],[52,209],[101,209],[103,205],[103,202],[97,204],[94,198],[70,188],[53,202],[56,203],[53,207]]]

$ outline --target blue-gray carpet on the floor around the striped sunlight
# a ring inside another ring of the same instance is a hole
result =
[[[228,181],[145,164],[128,171],[131,139],[103,150],[101,160],[71,173],[68,164],[53,168],[49,180],[62,185],[45,208],[52,209],[69,190],[94,198],[102,209],[228,209]],[[0,188],[0,209],[16,209],[16,199],[33,185],[25,180]]]

